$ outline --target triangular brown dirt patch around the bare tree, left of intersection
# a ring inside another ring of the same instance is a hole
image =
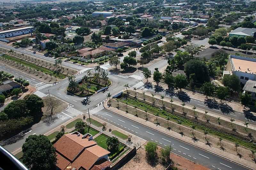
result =
[[[45,96],[42,99],[44,101],[44,107],[42,108],[44,115],[41,118],[41,120],[44,120],[44,119],[48,118],[49,116],[51,116],[51,107],[50,107],[49,96]],[[51,100],[54,105],[53,110],[52,110],[53,115],[61,112],[62,110],[66,109],[68,107],[67,103],[63,102],[62,100],[60,100],[58,98],[51,96]]]

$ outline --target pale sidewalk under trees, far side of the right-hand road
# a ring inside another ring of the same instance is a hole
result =
[[[165,69],[165,68],[164,68]],[[162,70],[164,70],[162,69]],[[143,82],[146,83],[147,80],[146,79],[143,79]],[[153,81],[153,78],[149,78],[148,79],[148,82],[152,83],[153,86],[156,85],[156,82]],[[161,87],[163,87],[163,89],[168,89],[168,86],[163,84],[163,83],[159,83],[161,85]],[[174,93],[177,93],[179,92],[180,90],[174,90]],[[201,100],[201,101],[205,101],[207,98],[206,96],[204,95],[201,95],[201,94],[198,94],[198,93],[194,93],[192,91],[188,91],[188,90],[185,90],[185,89],[182,89],[182,91],[184,91],[188,97],[191,97],[191,98],[195,98],[195,99],[198,99],[198,100]],[[212,97],[208,97],[209,99],[213,99]],[[217,98],[214,98],[218,103],[220,103],[220,100],[217,99]],[[236,111],[239,111],[239,112],[244,112],[244,110],[250,110],[250,108],[246,107],[246,109],[244,109],[244,106],[242,106],[240,103],[237,103],[235,101],[223,101],[225,104],[228,104],[229,106],[231,106],[233,108],[233,110],[236,110]],[[251,113],[256,116],[256,113],[255,112],[252,112]]]

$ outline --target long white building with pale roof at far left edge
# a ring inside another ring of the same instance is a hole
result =
[[[28,26],[28,27],[16,28],[12,30],[0,31],[0,39],[15,37],[23,34],[29,34],[35,30],[36,30],[35,27]]]

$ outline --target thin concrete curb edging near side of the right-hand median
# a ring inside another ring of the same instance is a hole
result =
[[[190,143],[188,143],[188,142],[186,142],[186,141],[182,141],[182,140],[180,140],[180,139],[178,139],[178,138],[176,138],[176,137],[174,137],[174,136],[172,136],[172,135],[170,135],[170,134],[167,134],[167,133],[165,133],[165,132],[162,132],[162,131],[160,131],[160,130],[158,130],[158,129],[153,129],[152,127],[149,127],[148,125],[142,124],[142,123],[140,123],[140,122],[137,122],[137,121],[135,121],[135,120],[132,120],[132,119],[129,118],[129,117],[123,116],[123,115],[121,115],[121,114],[119,114],[119,113],[116,113],[116,112],[114,112],[114,111],[112,111],[112,110],[109,110],[107,107],[105,107],[105,103],[106,103],[106,102],[108,102],[108,99],[107,99],[107,100],[104,102],[104,104],[103,104],[103,106],[104,106],[104,108],[105,108],[106,110],[111,111],[112,113],[115,113],[115,114],[117,114],[117,115],[119,115],[119,116],[125,117],[125,118],[127,118],[127,119],[129,119],[129,120],[131,120],[131,121],[133,121],[133,122],[136,122],[136,123],[142,125],[142,126],[146,126],[146,127],[150,128],[150,129],[152,129],[152,130],[158,131],[158,132],[160,132],[160,133],[162,133],[162,134],[165,134],[165,135],[167,135],[167,136],[170,136],[170,137],[172,137],[172,138],[175,138],[175,139],[177,139],[177,140],[179,140],[179,141],[181,141],[181,142],[184,142],[184,143],[186,143],[186,144],[188,144],[188,145],[192,145],[192,144],[190,144]],[[203,148],[200,148],[200,147],[198,147],[198,146],[195,146],[195,145],[192,145],[192,146],[194,146],[194,147],[196,147],[196,148],[198,148],[198,149],[201,149],[201,150],[203,150],[203,151],[205,151],[205,152],[212,153],[212,154],[214,154],[214,155],[216,155],[216,156],[219,156],[220,158],[226,159],[226,160],[228,160],[228,161],[230,161],[230,162],[233,162],[233,163],[238,164],[238,165],[240,165],[240,166],[243,166],[243,167],[245,167],[245,168],[248,168],[248,169],[253,170],[253,169],[250,168],[250,167],[247,167],[247,166],[245,166],[245,165],[242,165],[242,164],[240,164],[240,163],[237,163],[237,162],[235,162],[235,161],[233,161],[233,160],[231,160],[231,159],[228,159],[228,158],[226,158],[226,157],[224,157],[224,156],[221,156],[221,155],[219,155],[219,154],[217,154],[217,153],[214,153],[214,152],[211,152],[211,151],[207,151],[207,150],[205,150],[205,149],[203,149]]]

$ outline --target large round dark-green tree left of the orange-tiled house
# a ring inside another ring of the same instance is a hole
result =
[[[22,145],[22,162],[30,170],[54,169],[56,152],[52,143],[44,135],[30,135]]]

